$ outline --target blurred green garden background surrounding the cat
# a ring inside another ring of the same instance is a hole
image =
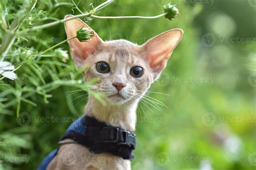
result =
[[[82,12],[103,2],[75,1]],[[97,15],[154,16],[168,2],[117,0]],[[171,2],[180,10],[173,20],[81,18],[104,40],[143,44],[170,29],[185,32],[149,90],[156,93],[147,94],[166,107],[140,103],[133,169],[255,169],[256,1]],[[4,59],[18,78],[0,75],[0,169],[36,169],[86,104],[86,91],[70,92],[83,83],[67,43],[29,60],[66,39],[63,24],[21,33],[79,11],[69,0],[38,1],[28,13],[30,4],[1,1],[1,44],[25,19]]]

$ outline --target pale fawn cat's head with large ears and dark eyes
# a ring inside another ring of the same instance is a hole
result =
[[[68,38],[76,36],[81,26],[91,29],[80,19],[65,22]],[[106,102],[119,105],[143,97],[166,67],[182,35],[180,29],[166,31],[139,46],[126,40],[104,42],[95,33],[87,42],[75,38],[69,45],[76,66],[89,65],[83,72],[85,82],[98,77],[96,90],[104,94]]]

